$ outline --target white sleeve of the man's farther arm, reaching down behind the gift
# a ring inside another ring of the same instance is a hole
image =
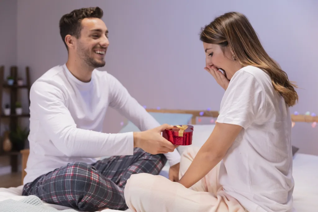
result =
[[[116,109],[123,116],[127,117],[141,131],[146,131],[160,124],[143,108],[127,89],[111,74],[108,74],[110,99],[109,106]],[[168,123],[169,124],[169,123]],[[170,166],[180,162],[180,154],[175,149],[173,152],[166,153]]]

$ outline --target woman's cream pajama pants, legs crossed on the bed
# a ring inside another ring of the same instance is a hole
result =
[[[181,156],[179,178],[183,176],[199,148],[190,147]],[[245,212],[218,183],[220,164],[191,188],[160,175],[133,174],[124,191],[134,212]]]

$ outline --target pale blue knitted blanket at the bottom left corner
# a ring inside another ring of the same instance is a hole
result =
[[[47,207],[37,196],[30,195],[23,200],[4,200],[0,202],[1,212],[78,212],[74,209],[57,210],[52,207]]]

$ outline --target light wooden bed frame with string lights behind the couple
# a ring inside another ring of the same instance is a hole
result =
[[[146,109],[148,112],[154,112],[154,113],[186,113],[186,114],[192,114],[191,124],[197,123],[197,117],[218,117],[218,111],[207,111],[207,110],[168,110],[168,109]],[[310,116],[310,115],[291,115],[293,122],[318,122],[317,116]],[[167,123],[169,124],[169,123]],[[26,161],[28,160],[29,156],[29,149],[21,150],[22,154],[22,184],[23,179],[25,176],[24,169],[26,168]]]

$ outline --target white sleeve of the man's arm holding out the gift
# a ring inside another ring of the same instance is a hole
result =
[[[31,87],[30,100],[39,124],[63,154],[92,158],[133,154],[133,132],[110,134],[77,128],[58,86],[37,81]]]

